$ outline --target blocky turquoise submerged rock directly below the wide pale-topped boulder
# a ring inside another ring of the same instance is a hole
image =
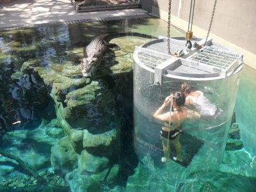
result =
[[[108,166],[109,159],[106,157],[97,157],[89,154],[86,150],[81,152],[78,159],[78,169],[80,174],[100,173]]]

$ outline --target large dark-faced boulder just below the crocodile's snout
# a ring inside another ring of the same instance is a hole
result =
[[[70,129],[81,128],[93,133],[105,132],[115,115],[115,97],[109,92],[106,81],[92,81],[84,88],[68,93],[65,102],[58,101],[53,93],[51,97],[56,102],[56,116],[68,135],[72,132]]]

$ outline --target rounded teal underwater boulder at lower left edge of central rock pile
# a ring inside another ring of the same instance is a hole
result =
[[[77,168],[77,154],[68,136],[58,140],[58,143],[51,148],[51,164],[54,171],[61,175]]]

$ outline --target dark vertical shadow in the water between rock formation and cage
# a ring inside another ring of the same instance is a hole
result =
[[[122,163],[122,181],[125,182],[129,175],[134,173],[134,168],[138,164],[138,158],[134,152],[133,143],[133,74],[129,72],[125,75],[120,75],[116,78],[118,82],[114,88],[114,92],[118,93],[115,96],[115,105],[118,109],[121,120],[121,163]],[[123,183],[125,185],[125,183]]]

